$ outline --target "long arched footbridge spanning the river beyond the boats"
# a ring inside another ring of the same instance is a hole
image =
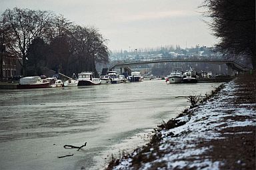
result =
[[[113,64],[113,66],[109,67],[109,70],[113,70],[114,68],[129,69],[129,66],[136,66],[142,64],[153,64],[153,63],[163,63],[163,62],[203,62],[209,64],[227,64],[228,74],[233,75],[234,70],[238,72],[245,72],[249,70],[245,65],[237,62],[236,60],[225,59],[221,57],[209,57],[209,56],[200,56],[200,57],[183,57],[183,58],[145,58],[142,60],[137,60],[133,62],[117,62]]]

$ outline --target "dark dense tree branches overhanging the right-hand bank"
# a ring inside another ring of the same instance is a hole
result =
[[[247,56],[255,69],[255,0],[205,0],[201,7],[207,8],[221,52]]]

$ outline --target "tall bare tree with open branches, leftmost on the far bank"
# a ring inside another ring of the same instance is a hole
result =
[[[32,11],[29,9],[7,9],[3,13],[5,25],[11,28],[6,46],[17,56],[23,68],[23,76],[27,74],[27,49],[33,39],[42,38],[47,33],[52,15],[47,11]]]

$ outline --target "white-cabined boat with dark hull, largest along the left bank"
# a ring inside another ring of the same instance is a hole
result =
[[[101,79],[94,78],[93,72],[81,72],[78,74],[77,80],[77,86],[93,86],[101,84]]]

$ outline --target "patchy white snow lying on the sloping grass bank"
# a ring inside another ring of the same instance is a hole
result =
[[[219,132],[223,128],[255,126],[255,111],[245,107],[251,106],[250,104],[230,103],[231,99],[236,98],[234,93],[238,88],[233,81],[225,84],[217,96],[191,110],[193,111],[192,116],[176,118],[186,124],[169,130],[161,130],[159,146],[143,153],[147,157],[153,156],[155,159],[142,163],[139,169],[153,169],[156,165],[163,166],[163,169],[219,169],[222,162],[212,162],[209,157],[200,157],[211,147],[198,147],[198,145],[201,141],[223,139],[223,135]],[[244,117],[241,120],[232,120],[234,116]],[[136,154],[136,152],[133,153],[133,155]],[[121,163],[114,169],[133,169],[131,167],[132,160],[133,157],[121,159]]]

